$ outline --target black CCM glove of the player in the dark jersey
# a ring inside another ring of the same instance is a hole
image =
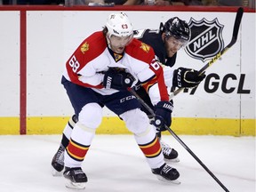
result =
[[[204,80],[204,73],[191,68],[178,68],[173,72],[172,85],[174,87],[191,88],[200,84]]]

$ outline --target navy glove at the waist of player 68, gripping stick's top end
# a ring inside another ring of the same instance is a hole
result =
[[[134,77],[124,70],[109,68],[103,78],[103,86],[107,89],[126,90],[132,86]]]

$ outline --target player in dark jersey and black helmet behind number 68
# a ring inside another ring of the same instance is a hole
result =
[[[189,68],[172,69],[175,64],[177,52],[182,46],[188,43],[189,28],[188,24],[184,20],[180,20],[175,17],[167,20],[165,24],[161,23],[160,28],[156,30],[144,29],[134,31],[134,37],[139,38],[145,44],[149,44],[153,47],[156,54],[156,59],[160,60],[164,66],[164,81],[168,87],[194,87],[199,84],[204,76],[199,76],[198,72]],[[178,70],[180,71],[180,77],[178,78]],[[136,92],[140,97],[154,109],[151,103],[148,93],[143,88],[136,86]],[[141,107],[144,109],[143,107]],[[146,113],[147,110],[144,109]],[[70,134],[73,127],[77,122],[76,116],[72,116],[66,125],[60,148],[52,158],[53,175],[61,172],[64,168],[63,153],[68,146]],[[161,132],[165,131],[163,127],[157,127],[157,136],[161,138]],[[161,146],[164,154],[165,161],[179,161],[178,152],[170,148],[167,144],[161,140]],[[57,171],[57,172],[56,172]]]

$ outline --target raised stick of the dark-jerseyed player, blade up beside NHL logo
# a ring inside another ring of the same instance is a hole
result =
[[[239,26],[240,26],[240,23],[241,23],[241,20],[242,20],[242,17],[243,17],[243,13],[244,13],[244,9],[243,9],[242,7],[239,7],[238,10],[237,10],[237,12],[236,12],[236,20],[235,20],[235,24],[234,24],[234,28],[233,28],[233,35],[232,35],[232,38],[231,38],[230,43],[229,43],[226,47],[224,47],[223,50],[221,50],[220,52],[218,52],[218,53],[212,58],[212,60],[210,60],[208,63],[206,63],[203,68],[201,68],[201,69],[199,70],[199,74],[200,74],[200,75],[203,74],[204,71],[205,71],[207,68],[211,67],[214,62],[216,62],[217,60],[219,60],[220,57],[221,57],[225,52],[227,52],[230,47],[233,46],[233,44],[236,44],[237,35],[238,35],[238,31],[239,31]],[[174,96],[176,96],[177,94],[179,94],[180,92],[182,92],[184,89],[185,89],[185,88],[179,88],[179,89],[175,90],[175,91],[172,92],[172,94],[169,96],[169,99],[172,100],[172,98],[173,98]]]

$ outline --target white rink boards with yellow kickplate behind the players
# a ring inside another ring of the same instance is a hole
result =
[[[236,12],[139,11],[126,8],[135,29],[158,28],[178,16],[206,28],[174,68],[202,68],[231,39]],[[60,133],[73,109],[60,84],[65,61],[86,36],[101,30],[111,10],[55,8],[0,11],[0,134]],[[6,21],[8,20],[8,22]],[[8,25],[7,25],[8,23]],[[215,39],[216,44],[211,44]],[[217,46],[217,47],[216,47]],[[219,46],[219,47],[218,47]],[[208,47],[208,48],[207,48]],[[202,52],[208,54],[204,58]],[[211,52],[212,51],[212,52]],[[206,71],[196,90],[174,98],[172,129],[178,134],[255,135],[255,12],[244,12],[237,42]],[[99,133],[129,133],[104,108]]]

